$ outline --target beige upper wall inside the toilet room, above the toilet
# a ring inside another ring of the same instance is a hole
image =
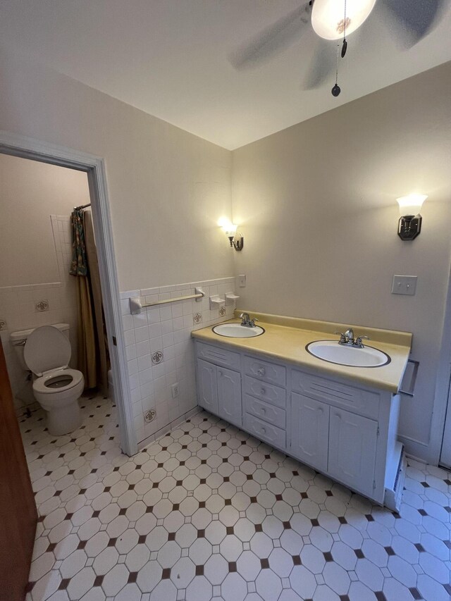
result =
[[[58,282],[51,215],[89,202],[87,175],[0,154],[0,287]]]

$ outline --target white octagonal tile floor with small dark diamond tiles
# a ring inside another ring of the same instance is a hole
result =
[[[449,601],[451,476],[410,461],[400,514],[205,412],[135,457],[116,409],[20,418],[39,524],[27,601]]]

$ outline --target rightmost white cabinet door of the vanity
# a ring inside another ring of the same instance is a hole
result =
[[[373,495],[378,423],[330,407],[328,473],[351,488]]]

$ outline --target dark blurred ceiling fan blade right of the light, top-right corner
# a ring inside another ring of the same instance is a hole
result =
[[[446,0],[382,0],[393,20],[397,38],[405,48],[412,48],[438,25]],[[393,19],[394,18],[394,19]]]

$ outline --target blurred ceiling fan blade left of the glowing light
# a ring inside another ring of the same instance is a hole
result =
[[[295,8],[249,39],[239,49],[228,56],[229,62],[237,70],[257,67],[271,60],[276,54],[296,42],[302,30],[308,30],[311,20],[309,2]]]

